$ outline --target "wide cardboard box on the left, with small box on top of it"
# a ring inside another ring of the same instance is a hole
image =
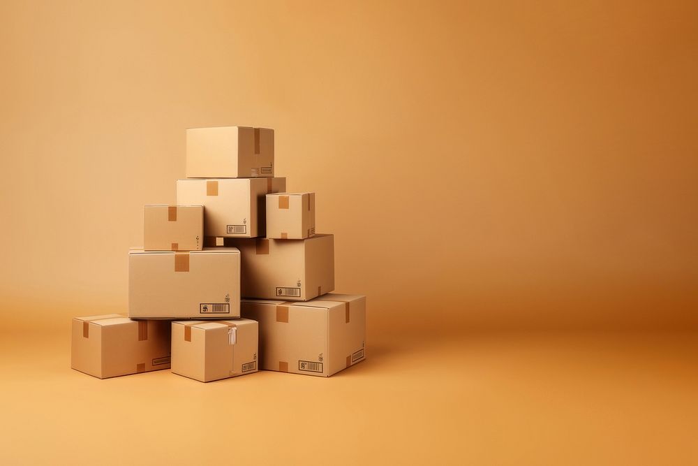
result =
[[[133,319],[223,319],[240,316],[240,252],[128,253],[128,315]]]

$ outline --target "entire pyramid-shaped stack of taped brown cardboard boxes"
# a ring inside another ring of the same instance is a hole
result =
[[[72,365],[100,378],[171,367],[330,376],[363,361],[365,296],[334,291],[315,194],[274,177],[274,131],[188,129],[177,205],[146,205],[128,254],[128,317],[73,319]]]

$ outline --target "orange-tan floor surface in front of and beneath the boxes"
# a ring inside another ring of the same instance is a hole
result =
[[[209,384],[0,336],[1,464],[698,464],[695,333],[394,337],[329,379]]]

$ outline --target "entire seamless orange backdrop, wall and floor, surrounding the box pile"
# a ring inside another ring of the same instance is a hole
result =
[[[405,463],[681,463],[695,338],[483,335],[696,330],[697,17],[672,0],[1,1],[6,454],[200,451],[227,423],[184,417],[261,393],[242,413],[256,435],[235,432],[270,461],[318,439],[370,462],[401,438]],[[277,174],[317,192],[336,289],[369,296],[369,359],[326,385],[67,370],[70,316],[126,310],[126,252],[142,205],[174,202],[184,129],[226,124],[276,129]],[[310,417],[282,403],[318,399]]]

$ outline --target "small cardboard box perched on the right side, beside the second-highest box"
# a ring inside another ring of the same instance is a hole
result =
[[[315,193],[267,194],[267,238],[302,240],[315,235]]]

